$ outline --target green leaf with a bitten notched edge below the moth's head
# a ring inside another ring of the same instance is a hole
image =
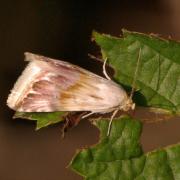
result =
[[[88,180],[178,180],[180,144],[143,154],[139,144],[141,123],[130,117],[94,121],[100,142],[76,154],[70,167]]]

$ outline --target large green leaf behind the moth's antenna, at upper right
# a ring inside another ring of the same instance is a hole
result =
[[[93,33],[103,58],[115,70],[114,80],[130,87],[140,61],[134,101],[180,113],[180,43],[123,30],[123,37]]]

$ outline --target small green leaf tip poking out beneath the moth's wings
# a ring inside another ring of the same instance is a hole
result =
[[[16,112],[14,118],[35,120],[36,130],[64,120],[65,112]]]

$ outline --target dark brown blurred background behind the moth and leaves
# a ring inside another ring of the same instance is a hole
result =
[[[180,39],[178,0],[26,0],[1,1],[0,7],[0,179],[80,180],[66,166],[76,149],[94,144],[98,131],[88,121],[61,140],[61,124],[36,132],[35,123],[13,120],[6,99],[24,69],[25,51],[63,59],[101,74],[88,53],[99,49],[92,30],[115,36],[121,29]],[[180,140],[180,121],[146,124],[144,151]]]

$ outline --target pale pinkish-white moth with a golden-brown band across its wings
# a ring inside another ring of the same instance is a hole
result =
[[[135,108],[132,96],[107,78],[65,61],[25,53],[29,64],[18,78],[7,105],[19,112],[129,111]],[[111,118],[113,119],[113,117]]]

